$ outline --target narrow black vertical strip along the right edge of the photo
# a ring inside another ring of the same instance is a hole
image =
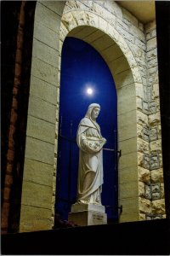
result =
[[[170,2],[156,1],[157,54],[160,86],[161,143],[165,205],[170,218]]]

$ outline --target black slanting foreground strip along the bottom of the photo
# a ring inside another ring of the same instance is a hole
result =
[[[170,221],[73,227],[2,236],[2,254],[169,255]]]

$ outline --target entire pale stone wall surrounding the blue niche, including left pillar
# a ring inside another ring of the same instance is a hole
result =
[[[151,81],[156,77],[156,63],[152,66],[156,51],[154,55],[149,50],[156,42],[153,38],[149,40],[154,32],[147,27],[146,37],[139,20],[114,1],[42,1],[37,2],[35,15],[21,231],[50,229],[54,222],[61,50],[65,36],[71,35],[73,28],[77,27],[80,38],[85,40],[82,26],[89,26],[84,32],[104,56],[116,81],[118,129],[122,138],[120,220],[156,218],[153,213],[164,213],[159,96],[157,80]],[[89,35],[93,27],[97,29]],[[112,42],[107,52],[102,51],[104,44],[99,44],[99,40],[95,45],[102,31],[108,35],[105,43]]]

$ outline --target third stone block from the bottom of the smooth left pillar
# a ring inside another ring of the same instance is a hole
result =
[[[25,158],[24,177],[27,182],[52,186],[54,166]]]

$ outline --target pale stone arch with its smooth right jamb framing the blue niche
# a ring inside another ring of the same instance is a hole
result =
[[[123,205],[123,212],[120,221],[139,220],[136,90],[142,90],[143,84],[137,61],[121,34],[92,12],[74,10],[62,16],[59,63],[62,44],[67,36],[91,44],[110,67],[117,90],[118,147],[122,149],[119,160],[119,205]]]

